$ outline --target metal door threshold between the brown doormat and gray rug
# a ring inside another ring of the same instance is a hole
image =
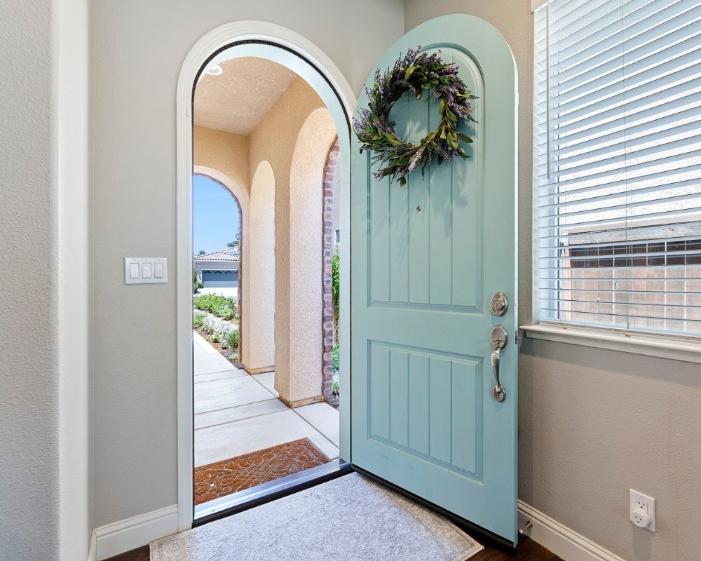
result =
[[[249,508],[254,508],[255,506],[275,501],[275,499],[280,499],[283,496],[303,491],[314,485],[339,478],[341,475],[351,473],[351,471],[353,471],[351,464],[346,461],[330,461],[322,466],[293,473],[284,478],[198,504],[195,506],[192,527],[201,526],[219,518],[247,511]]]

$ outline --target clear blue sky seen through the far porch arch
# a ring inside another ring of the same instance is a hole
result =
[[[236,239],[240,210],[226,187],[203,175],[192,179],[193,251],[209,253]]]

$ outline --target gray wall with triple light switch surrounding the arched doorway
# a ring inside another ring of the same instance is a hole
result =
[[[175,277],[125,286],[122,259],[175,265],[177,74],[203,34],[247,19],[305,36],[356,91],[403,30],[400,0],[95,0],[95,526],[177,502]]]

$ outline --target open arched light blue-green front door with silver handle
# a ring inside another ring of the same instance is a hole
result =
[[[494,27],[448,15],[416,27],[408,48],[440,49],[479,100],[471,157],[431,165],[407,186],[377,181],[352,151],[352,461],[484,529],[517,541],[516,69]],[[372,75],[368,85],[372,86]],[[361,95],[359,107],[367,107]],[[392,113],[418,141],[437,103],[405,95]],[[496,316],[491,297],[508,310]],[[506,398],[494,397],[490,331],[503,325]]]

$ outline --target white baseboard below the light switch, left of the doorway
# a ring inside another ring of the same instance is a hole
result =
[[[177,504],[114,522],[95,529],[95,557],[97,561],[108,559],[177,530]]]

